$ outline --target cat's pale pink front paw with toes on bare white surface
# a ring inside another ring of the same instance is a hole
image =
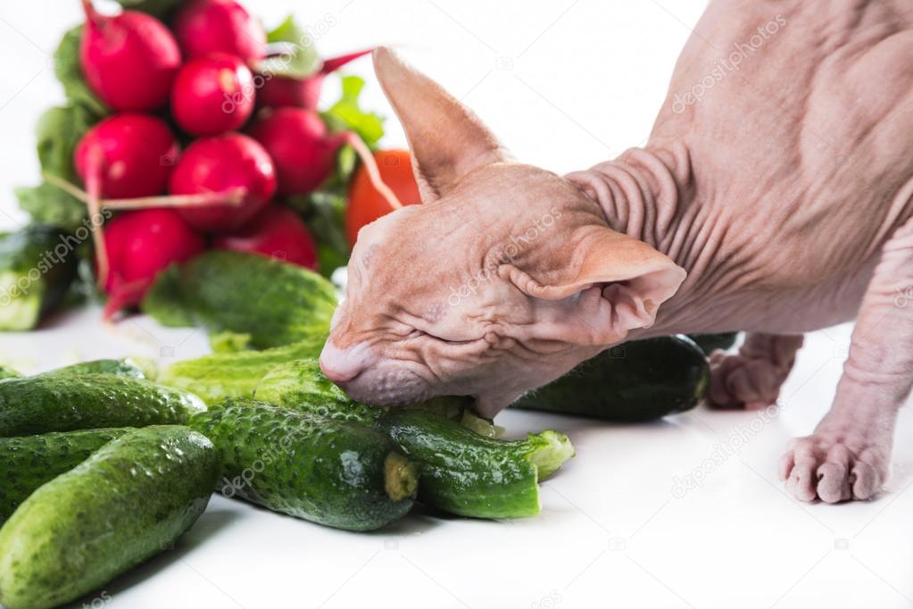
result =
[[[780,478],[795,499],[837,503],[874,497],[889,467],[889,439],[815,432],[792,440],[780,462]]]

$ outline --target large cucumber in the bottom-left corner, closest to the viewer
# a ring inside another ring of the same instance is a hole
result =
[[[205,510],[218,472],[212,443],[180,425],[102,446],[0,529],[0,603],[67,603],[171,547]]]

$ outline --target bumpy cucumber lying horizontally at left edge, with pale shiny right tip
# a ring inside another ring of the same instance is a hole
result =
[[[114,374],[42,375],[0,383],[0,437],[99,427],[184,424],[194,394]]]

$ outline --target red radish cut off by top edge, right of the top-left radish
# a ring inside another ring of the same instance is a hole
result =
[[[187,58],[228,53],[249,64],[267,54],[263,27],[234,0],[192,0],[174,16],[173,29]]]

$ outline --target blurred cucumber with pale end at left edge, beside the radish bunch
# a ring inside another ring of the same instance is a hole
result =
[[[77,245],[47,225],[0,236],[0,331],[31,330],[58,306],[76,278]]]

